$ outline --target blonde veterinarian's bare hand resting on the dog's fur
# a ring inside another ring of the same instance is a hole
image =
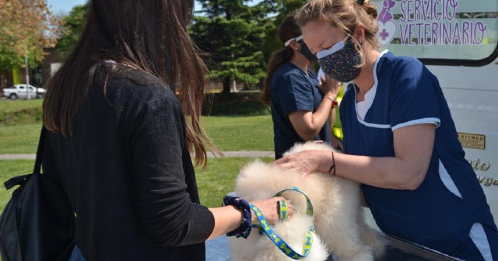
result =
[[[320,166],[327,165],[330,161],[329,158],[330,152],[328,151],[308,150],[285,156],[273,164],[286,170],[298,171],[305,177],[319,171]]]

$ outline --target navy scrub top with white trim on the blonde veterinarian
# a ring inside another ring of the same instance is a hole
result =
[[[356,87],[341,103],[344,149],[348,154],[394,157],[393,132],[438,125],[427,175],[416,190],[362,185],[379,228],[452,254],[469,238],[472,224],[497,230],[482,187],[458,141],[437,78],[417,59],[383,52],[374,67],[376,93],[364,119],[357,116]],[[368,173],[365,173],[368,175]]]

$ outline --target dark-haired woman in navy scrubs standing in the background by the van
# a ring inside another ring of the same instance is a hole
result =
[[[337,91],[329,91],[336,89],[329,86],[337,82],[330,79],[322,85],[308,68],[317,59],[302,40],[295,15],[285,17],[278,28],[278,38],[285,47],[274,52],[268,62],[262,97],[265,104],[271,104],[276,159],[296,142],[330,143],[329,126],[335,120]]]

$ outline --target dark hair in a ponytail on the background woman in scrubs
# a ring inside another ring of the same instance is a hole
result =
[[[301,28],[299,25],[297,25],[296,21],[296,12],[292,12],[289,15],[285,17],[283,20],[282,24],[278,27],[277,31],[277,36],[278,40],[280,42],[285,43],[291,38],[298,37],[301,35]],[[266,66],[266,83],[264,86],[264,92],[263,96],[261,97],[261,101],[266,104],[270,105],[271,98],[270,98],[270,86],[271,86],[271,79],[273,78],[273,75],[275,74],[275,71],[280,67],[282,64],[288,62],[293,55],[292,48],[290,46],[283,47],[277,51],[275,51],[271,57],[270,61],[268,62],[268,65]]]

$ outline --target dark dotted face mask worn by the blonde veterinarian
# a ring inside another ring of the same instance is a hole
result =
[[[362,62],[362,56],[349,36],[316,56],[322,70],[334,80],[350,82],[360,75],[358,65]]]

